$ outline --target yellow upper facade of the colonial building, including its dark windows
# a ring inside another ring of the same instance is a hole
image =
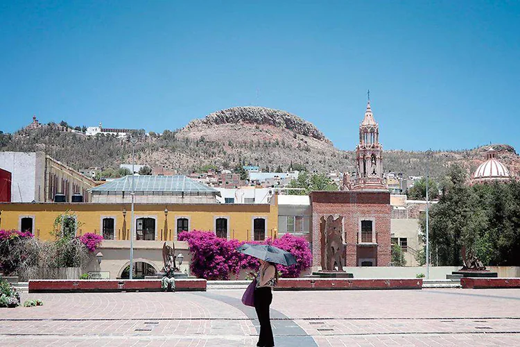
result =
[[[130,203],[0,203],[0,228],[29,230],[51,239],[54,221],[67,214],[85,232],[104,239],[128,240],[132,217]],[[135,239],[173,241],[179,232],[205,230],[218,237],[243,241],[273,237],[278,223],[277,196],[269,204],[167,204],[139,203],[134,212]]]

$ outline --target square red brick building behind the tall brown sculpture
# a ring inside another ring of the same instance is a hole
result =
[[[342,266],[390,264],[390,192],[312,192],[313,266],[322,264],[322,222],[338,221],[344,254]]]

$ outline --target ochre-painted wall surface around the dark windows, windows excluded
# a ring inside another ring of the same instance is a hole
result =
[[[156,217],[156,240],[176,239],[176,219],[189,219],[190,230],[215,230],[216,217],[229,217],[229,238],[239,240],[252,239],[252,220],[255,217],[266,219],[266,237],[277,232],[278,206],[245,205],[245,204],[139,204],[135,205],[135,218]],[[123,209],[126,216],[123,218]],[[168,209],[167,230],[165,227],[164,209]],[[101,218],[115,217],[116,239],[128,239],[131,212],[130,204],[99,204],[99,203],[0,203],[0,229],[18,229],[19,218],[34,217],[33,233],[40,239],[51,239],[53,223],[58,215],[69,210],[76,214],[80,228],[78,234],[95,232],[100,234]],[[123,228],[125,223],[125,228]],[[126,232],[125,232],[126,229]]]

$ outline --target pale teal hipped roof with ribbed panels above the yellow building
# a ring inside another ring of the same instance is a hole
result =
[[[175,192],[190,195],[220,196],[217,189],[204,183],[197,182],[186,176],[133,176],[135,192]],[[132,192],[132,176],[125,176],[112,180],[98,187],[89,189],[90,192]]]

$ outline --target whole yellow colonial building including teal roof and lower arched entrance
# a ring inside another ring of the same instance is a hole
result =
[[[54,232],[60,232],[54,226],[58,216],[73,219],[77,236],[86,232],[103,235],[98,248],[102,261],[92,257],[85,271],[104,278],[128,276],[124,271],[129,264],[132,229],[137,277],[153,276],[162,269],[164,242],[175,242],[176,253],[182,253],[185,260],[181,270],[189,272],[188,246],[177,241],[182,231],[210,231],[217,237],[241,241],[277,235],[277,195],[265,204],[220,204],[216,189],[184,176],[157,177],[136,177],[133,221],[128,192],[132,183],[127,177],[91,189],[94,201],[105,202],[0,203],[0,229],[28,230],[39,239],[51,240]]]

